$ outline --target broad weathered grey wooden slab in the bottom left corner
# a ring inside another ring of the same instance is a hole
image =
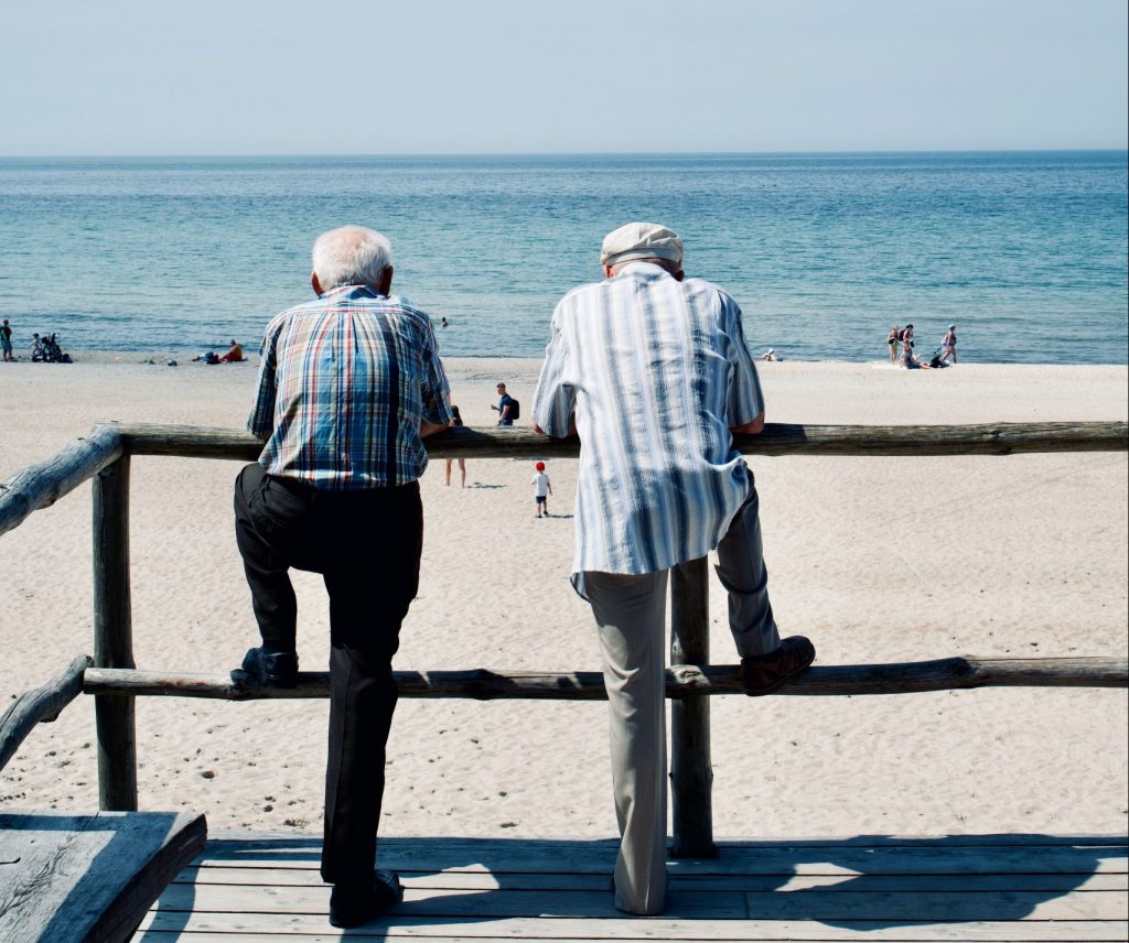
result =
[[[205,834],[189,812],[0,814],[0,941],[128,940]]]

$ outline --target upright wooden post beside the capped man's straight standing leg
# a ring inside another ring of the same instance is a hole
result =
[[[671,663],[709,664],[709,566],[706,557],[671,569]],[[671,800],[675,857],[714,857],[714,767],[709,698],[671,703]]]

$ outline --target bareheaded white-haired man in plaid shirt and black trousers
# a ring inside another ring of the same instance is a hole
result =
[[[330,596],[322,879],[333,884],[330,923],[352,927],[403,894],[394,873],[373,870],[396,706],[392,656],[419,585],[421,439],[447,428],[450,391],[430,317],[391,293],[384,236],[359,226],[324,232],[313,263],[317,299],[278,315],[263,337],[247,428],[266,444],[235,484],[262,646],[231,677],[295,687],[289,570],[321,573]]]

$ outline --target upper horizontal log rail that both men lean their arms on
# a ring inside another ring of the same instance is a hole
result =
[[[132,455],[254,460],[262,442],[237,429],[122,424]],[[528,428],[450,429],[426,440],[432,458],[570,458],[580,440],[548,439]],[[1016,452],[1129,451],[1129,423],[1041,422],[979,425],[791,425],[769,423],[738,435],[746,455],[955,456]]]

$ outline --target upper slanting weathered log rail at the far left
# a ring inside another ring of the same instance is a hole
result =
[[[46,461],[29,465],[0,483],[0,534],[18,527],[33,511],[50,508],[122,456],[113,426],[96,426]]]

